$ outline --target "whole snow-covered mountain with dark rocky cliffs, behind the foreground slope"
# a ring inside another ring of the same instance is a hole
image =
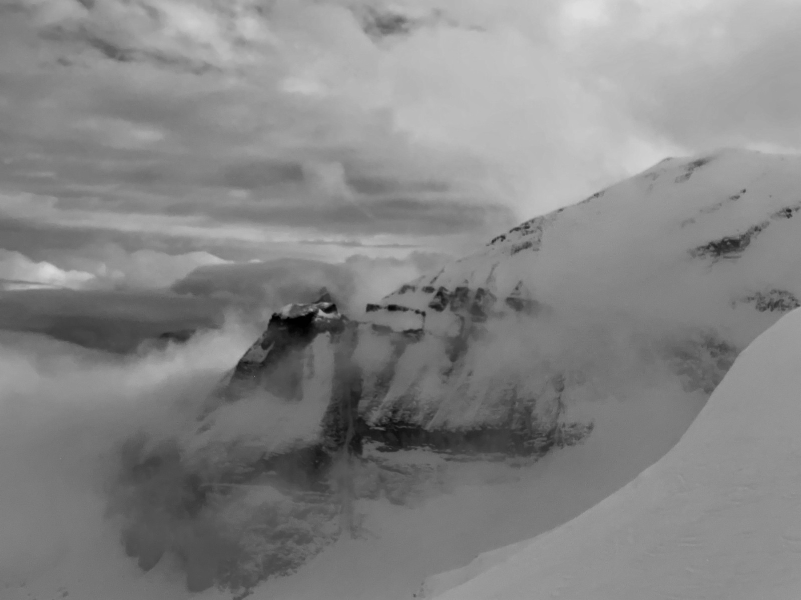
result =
[[[386,502],[427,514],[478,472],[527,482],[508,488],[525,502],[464,509],[458,547],[432,522],[414,548],[392,545],[403,528],[385,534],[407,583],[566,522],[670,450],[739,352],[799,306],[798,190],[797,156],[667,158],[364,318],[325,295],[285,307],[191,430],[123,450],[112,510],[128,554],[145,570],[175,555],[191,590],[270,580],[275,595],[315,556],[340,564]],[[408,597],[370,577],[304,597]]]

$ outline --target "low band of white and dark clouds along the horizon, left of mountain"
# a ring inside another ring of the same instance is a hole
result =
[[[166,332],[217,328],[227,313],[259,322],[290,302],[315,301],[322,287],[358,316],[367,302],[449,258],[407,253],[230,262],[207,252],[128,251],[110,243],[55,256],[54,264],[0,250],[0,330],[127,353]]]

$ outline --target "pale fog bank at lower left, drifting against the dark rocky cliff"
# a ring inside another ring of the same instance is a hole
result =
[[[119,358],[0,332],[4,590],[14,594],[26,578],[58,562],[82,570],[87,553],[103,573],[101,588],[130,573],[106,513],[119,446],[140,429],[166,436],[185,425],[251,338],[231,322],[184,346]],[[103,597],[97,591],[80,595]]]

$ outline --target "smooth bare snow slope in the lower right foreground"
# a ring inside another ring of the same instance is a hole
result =
[[[573,521],[430,578],[425,597],[801,597],[799,364],[795,310],[654,466]]]

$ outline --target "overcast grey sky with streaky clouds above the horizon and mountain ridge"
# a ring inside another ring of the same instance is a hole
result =
[[[801,147],[799,31],[795,0],[2,0],[0,278],[459,254],[667,155]]]

